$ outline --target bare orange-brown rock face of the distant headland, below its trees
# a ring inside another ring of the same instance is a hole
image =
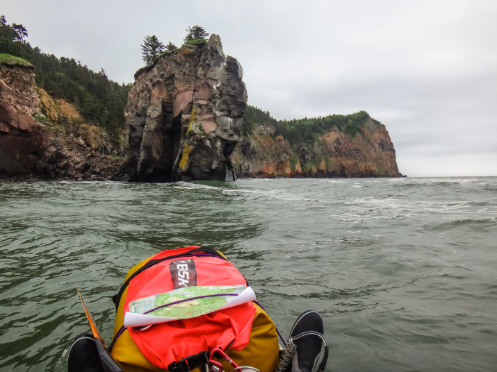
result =
[[[273,139],[267,126],[243,138],[231,155],[236,174],[250,178],[400,177],[396,153],[382,124],[366,120],[361,133],[338,130],[315,142],[291,146],[282,136]]]

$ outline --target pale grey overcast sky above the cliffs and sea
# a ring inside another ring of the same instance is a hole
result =
[[[275,119],[366,110],[407,176],[497,176],[497,0],[2,0],[45,53],[119,83],[140,44],[179,46],[198,24],[243,66]]]

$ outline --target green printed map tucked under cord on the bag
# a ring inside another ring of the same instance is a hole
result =
[[[138,298],[138,300],[129,303],[129,311],[133,314],[143,314],[149,310],[147,315],[167,316],[168,318],[186,319],[193,318],[202,314],[208,314],[218,310],[220,307],[225,306],[229,301],[234,300],[236,296],[233,294],[241,294],[246,289],[245,285],[209,285],[202,287],[185,287],[174,289],[172,291]],[[212,296],[212,295],[227,296]],[[211,296],[211,297],[209,297]],[[199,297],[199,298],[196,298]],[[190,301],[175,303],[177,301],[187,300],[188,298],[195,298]],[[161,307],[163,306],[163,307]]]

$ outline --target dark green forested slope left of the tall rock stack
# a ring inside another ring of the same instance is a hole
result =
[[[31,62],[37,85],[75,105],[85,119],[106,130],[114,142],[120,142],[131,84],[111,81],[104,69],[94,72],[74,58],[42,53],[26,42],[27,35],[22,24],[9,25],[4,16],[0,17],[0,53]]]

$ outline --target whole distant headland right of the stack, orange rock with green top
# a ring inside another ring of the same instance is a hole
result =
[[[307,123],[297,122],[295,127],[291,126],[293,123],[272,119],[268,113],[259,116],[263,119],[252,126],[249,135],[241,138],[231,155],[238,177],[402,176],[388,131],[366,112],[309,119]],[[325,124],[331,128],[312,133],[313,125],[323,128]],[[303,128],[300,135],[299,126]],[[293,137],[288,129],[293,129]]]

